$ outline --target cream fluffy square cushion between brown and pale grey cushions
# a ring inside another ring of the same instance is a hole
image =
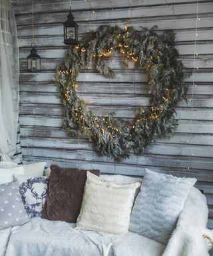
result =
[[[124,235],[128,233],[130,213],[140,183],[116,185],[89,171],[76,229]]]

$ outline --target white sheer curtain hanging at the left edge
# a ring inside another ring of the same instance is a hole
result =
[[[19,113],[19,48],[10,0],[0,0],[0,157],[15,154]]]

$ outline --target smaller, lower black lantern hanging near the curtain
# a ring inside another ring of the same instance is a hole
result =
[[[36,53],[35,43],[31,43],[31,54],[27,56],[27,71],[40,72],[41,71],[41,57]]]

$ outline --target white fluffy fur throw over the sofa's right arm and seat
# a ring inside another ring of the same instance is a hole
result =
[[[213,231],[206,229],[207,221],[206,197],[193,187],[168,245],[130,232],[112,241],[113,255],[209,256],[208,243],[202,237],[203,234],[213,237]]]

